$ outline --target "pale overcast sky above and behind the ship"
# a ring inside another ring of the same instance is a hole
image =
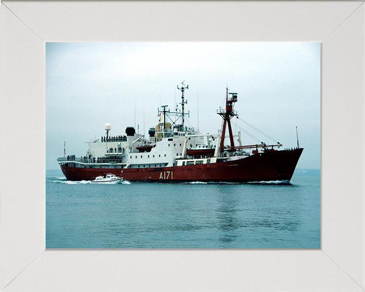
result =
[[[64,141],[66,155],[86,155],[86,142],[104,135],[105,123],[112,136],[134,123],[148,134],[157,107],[181,101],[176,85],[184,80],[188,120],[201,133],[221,128],[216,109],[228,86],[238,93],[239,117],[283,148],[296,147],[298,126],[304,151],[297,167],[320,168],[320,43],[47,43],[46,168],[59,169]],[[256,143],[243,133],[242,142]]]

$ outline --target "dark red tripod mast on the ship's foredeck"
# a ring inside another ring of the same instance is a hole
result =
[[[234,138],[232,133],[232,126],[231,126],[231,119],[234,116],[237,116],[237,113],[233,111],[234,103],[237,101],[237,93],[228,92],[228,87],[226,88],[226,110],[224,109],[218,109],[217,114],[220,115],[223,119],[222,124],[222,132],[221,132],[221,144],[220,149],[224,149],[224,140],[225,140],[225,134],[226,134],[226,126],[228,125],[228,131],[230,135],[230,141],[231,141],[231,148],[230,151],[234,151]],[[230,94],[231,96],[228,96]]]

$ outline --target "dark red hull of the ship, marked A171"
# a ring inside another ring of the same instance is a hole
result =
[[[68,180],[93,180],[106,172],[129,181],[269,181],[290,180],[303,148],[270,151],[249,157],[211,164],[155,168],[79,168],[61,165]]]

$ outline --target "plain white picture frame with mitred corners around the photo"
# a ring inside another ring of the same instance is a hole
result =
[[[4,1],[0,289],[363,291],[364,20],[363,1]],[[45,250],[45,42],[75,41],[321,42],[321,249]]]

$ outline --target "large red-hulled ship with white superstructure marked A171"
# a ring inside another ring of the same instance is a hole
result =
[[[201,134],[188,126],[185,91],[189,85],[177,86],[181,102],[175,111],[167,105],[158,108],[159,123],[148,135],[126,127],[125,135],[111,136],[111,125],[105,124],[105,135],[93,139],[83,157],[67,155],[57,159],[67,180],[95,180],[105,173],[128,181],[145,182],[257,182],[290,181],[303,152],[299,147],[280,149],[282,144],[243,145],[240,132],[234,135],[231,120],[238,117],[234,105],[237,93],[226,88],[225,107],[216,114],[222,117],[217,134]],[[163,118],[163,121],[161,119]],[[226,129],[228,128],[228,136]],[[230,144],[225,144],[229,138]],[[239,143],[235,145],[235,141]]]

